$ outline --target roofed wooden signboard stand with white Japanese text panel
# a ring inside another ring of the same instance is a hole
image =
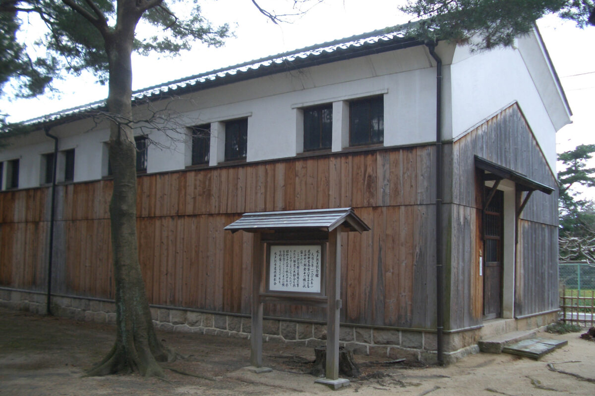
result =
[[[246,213],[225,229],[254,233],[248,369],[271,371],[262,366],[264,302],[321,306],[327,308],[326,377],[315,382],[333,389],[349,385],[339,378],[341,235],[369,227],[351,208],[340,208]]]

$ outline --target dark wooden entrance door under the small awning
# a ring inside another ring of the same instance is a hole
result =
[[[504,194],[497,190],[484,216],[484,319],[502,316],[503,211]]]

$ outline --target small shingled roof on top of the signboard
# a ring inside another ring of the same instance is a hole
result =
[[[239,220],[234,221],[224,229],[231,232],[308,229],[331,232],[341,225],[345,226],[349,231],[357,231],[359,233],[369,231],[370,229],[353,212],[352,208],[245,213]]]

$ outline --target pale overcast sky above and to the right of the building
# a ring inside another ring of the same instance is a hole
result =
[[[259,4],[270,7],[291,2],[261,0]],[[293,23],[280,26],[268,21],[250,0],[206,0],[203,4],[203,13],[215,23],[230,23],[236,37],[228,39],[224,47],[197,45],[173,59],[134,56],[134,90],[409,19],[397,11],[399,2],[394,0],[325,0],[302,17],[293,18]],[[574,113],[573,124],[558,132],[558,152],[595,143],[595,28],[580,30],[556,17],[544,18],[538,26]],[[107,88],[95,84],[91,74],[66,77],[57,87],[62,93],[53,97],[13,102],[2,97],[0,111],[11,115],[9,121],[23,121],[107,96]]]

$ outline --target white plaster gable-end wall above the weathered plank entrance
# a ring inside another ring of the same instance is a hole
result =
[[[518,102],[551,169],[555,172],[556,131],[568,123],[569,114],[553,95],[553,77],[543,67],[543,54],[538,52],[536,38],[523,39],[519,49],[493,49],[469,56],[467,47],[458,47],[450,66],[452,78],[452,137],[457,138],[513,102]],[[533,43],[531,43],[533,40]],[[528,49],[526,49],[527,47]],[[541,57],[539,59],[533,59]],[[533,59],[529,72],[525,59]],[[536,84],[543,86],[540,90]],[[545,87],[545,85],[549,85]],[[556,93],[559,97],[559,93]]]

